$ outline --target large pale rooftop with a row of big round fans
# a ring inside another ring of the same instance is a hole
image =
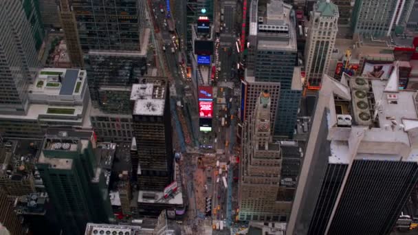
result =
[[[331,162],[347,163],[353,152],[362,159],[418,161],[412,147],[418,143],[418,93],[398,89],[398,65],[393,66],[388,79],[343,74],[338,82],[324,76],[317,107],[329,107]]]

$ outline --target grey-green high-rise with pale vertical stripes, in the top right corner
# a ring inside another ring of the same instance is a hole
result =
[[[356,0],[351,26],[353,32],[369,37],[390,36],[402,31],[409,20],[413,0]]]

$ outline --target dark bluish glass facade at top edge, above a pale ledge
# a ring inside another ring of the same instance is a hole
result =
[[[73,0],[78,36],[89,49],[139,50],[141,8],[137,0]]]

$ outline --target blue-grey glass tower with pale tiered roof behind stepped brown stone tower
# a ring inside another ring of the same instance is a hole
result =
[[[292,137],[302,91],[300,69],[296,68],[297,44],[292,5],[280,0],[252,1],[248,35],[248,65],[245,82],[248,91],[241,104],[244,120],[254,111],[254,103],[263,89],[253,89],[261,82],[270,83],[272,130],[274,135]],[[261,86],[259,86],[261,87]],[[274,89],[272,89],[274,87]],[[280,87],[280,91],[278,90]],[[253,93],[254,92],[254,93]],[[279,96],[276,96],[276,93]],[[241,97],[242,100],[242,97]],[[275,104],[278,103],[276,108]],[[243,107],[243,106],[244,107]]]

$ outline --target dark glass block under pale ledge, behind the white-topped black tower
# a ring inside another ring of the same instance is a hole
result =
[[[146,50],[90,50],[85,67],[93,107],[104,113],[131,114],[131,85],[146,72]]]

